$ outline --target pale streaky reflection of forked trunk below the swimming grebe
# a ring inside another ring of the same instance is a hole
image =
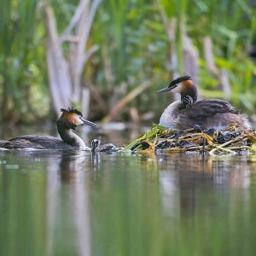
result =
[[[74,241],[77,243],[79,255],[90,255],[90,184],[86,179],[86,175],[90,175],[92,170],[90,154],[66,151],[61,152],[60,156],[58,166],[56,162],[49,166],[47,180],[48,253],[54,252],[55,230],[58,229],[59,219],[66,219],[68,216],[68,219],[73,221],[71,226],[74,229]],[[64,203],[70,207],[66,207],[65,212],[59,212],[64,195]]]

